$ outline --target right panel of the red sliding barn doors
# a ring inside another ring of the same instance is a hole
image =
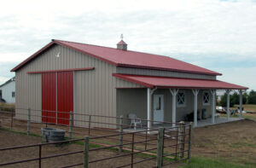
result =
[[[69,112],[73,112],[73,72],[57,75],[58,124],[69,125]]]

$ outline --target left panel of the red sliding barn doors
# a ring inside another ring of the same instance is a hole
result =
[[[42,73],[42,122],[56,121],[56,77],[55,73]]]

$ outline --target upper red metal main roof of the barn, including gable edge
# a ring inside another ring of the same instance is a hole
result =
[[[26,61],[21,62],[20,65],[18,65],[11,71],[17,71],[20,67],[24,66],[26,62],[31,61],[37,55],[42,53],[45,49],[48,49],[53,43],[58,43],[70,49],[75,49],[86,55],[96,57],[99,60],[107,61],[114,66],[119,67],[139,67],[177,72],[193,72],[210,75],[221,75],[221,73],[213,72],[203,67],[197,67],[184,61],[178,61],[168,56],[152,55],[136,51],[113,49],[97,45],[73,43],[61,40],[53,40],[43,49],[40,49],[37,53],[26,59]]]

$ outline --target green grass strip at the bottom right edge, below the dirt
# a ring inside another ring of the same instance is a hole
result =
[[[238,165],[217,159],[207,159],[201,157],[191,158],[189,164],[182,165],[179,168],[250,168],[250,165]]]

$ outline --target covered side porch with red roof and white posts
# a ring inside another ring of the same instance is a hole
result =
[[[113,74],[113,76],[144,86],[143,89],[140,88],[144,95],[142,106],[145,105],[145,109],[142,107],[141,111],[146,111],[146,115],[142,116],[143,119],[148,120],[146,124],[148,129],[159,126],[155,121],[172,122],[172,127],[184,120],[192,121],[195,127],[233,121],[234,119],[230,119],[230,90],[238,90],[240,93],[239,118],[242,119],[242,92],[247,90],[247,87],[212,79],[126,74]],[[227,93],[227,118],[225,119],[216,115],[216,90],[226,90]]]

